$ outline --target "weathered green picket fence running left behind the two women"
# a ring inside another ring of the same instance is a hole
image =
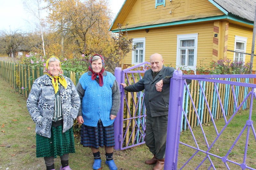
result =
[[[63,70],[63,75],[76,85],[83,73]],[[28,97],[33,82],[44,75],[44,67],[33,67],[14,62],[0,61],[0,77],[7,81],[13,89]]]

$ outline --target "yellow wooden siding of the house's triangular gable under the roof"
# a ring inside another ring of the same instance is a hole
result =
[[[139,5],[139,3],[141,5]],[[172,14],[170,14],[170,11],[172,11]],[[139,13],[140,17],[138,17]],[[155,8],[155,1],[137,0],[129,14],[122,22],[123,25],[125,25],[125,23],[132,25],[168,18],[177,18],[175,20],[179,20],[180,17],[188,17],[188,19],[193,19],[197,18],[196,16],[199,15],[203,18],[202,14],[205,15],[204,17],[223,15],[223,13],[217,7],[207,0],[181,0],[173,1],[172,3],[166,0],[165,7],[161,5],[157,6],[157,8]],[[189,15],[191,15],[191,17],[189,17]]]

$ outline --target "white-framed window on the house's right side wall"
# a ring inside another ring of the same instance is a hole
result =
[[[237,52],[242,52],[242,53],[234,53],[234,61],[245,61],[245,53],[246,52],[246,42],[247,38],[246,37],[240,37],[240,36],[235,36],[235,50]]]

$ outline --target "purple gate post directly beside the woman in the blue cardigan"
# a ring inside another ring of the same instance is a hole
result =
[[[116,67],[115,69],[115,77],[116,81],[119,85],[120,93],[121,93],[121,103],[120,103],[120,108],[118,110],[117,116],[114,121],[114,134],[115,134],[115,150],[120,150],[121,149],[121,135],[123,132],[121,132],[121,128],[123,127],[123,123],[121,122],[123,120],[123,110],[124,110],[124,88],[121,87],[120,83],[122,82],[122,68],[121,67]]]

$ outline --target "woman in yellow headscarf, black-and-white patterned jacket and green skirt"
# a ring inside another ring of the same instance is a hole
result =
[[[54,170],[54,158],[59,155],[60,170],[71,170],[68,154],[75,152],[72,126],[80,98],[73,82],[61,74],[57,57],[47,60],[45,72],[34,81],[27,100],[36,123],[36,157],[44,157],[46,170]]]

